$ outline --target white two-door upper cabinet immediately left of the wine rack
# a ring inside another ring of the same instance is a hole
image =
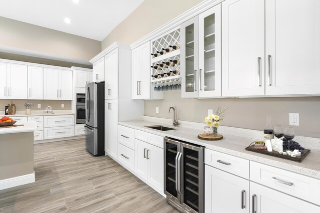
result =
[[[150,98],[150,41],[131,51],[131,98]]]

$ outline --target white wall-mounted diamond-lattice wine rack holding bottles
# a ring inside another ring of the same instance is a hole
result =
[[[152,41],[151,66],[154,91],[181,88],[180,29]]]

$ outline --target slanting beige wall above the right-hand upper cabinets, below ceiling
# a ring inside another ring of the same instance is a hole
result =
[[[105,49],[114,41],[131,44],[201,1],[202,0],[144,0],[102,40],[101,49]],[[159,8],[162,8],[163,12]]]

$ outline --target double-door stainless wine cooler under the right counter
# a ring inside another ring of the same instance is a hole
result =
[[[204,147],[164,138],[164,193],[181,213],[204,211]]]

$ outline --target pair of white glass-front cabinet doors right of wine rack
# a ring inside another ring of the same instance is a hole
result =
[[[221,4],[181,24],[182,98],[221,96]]]

